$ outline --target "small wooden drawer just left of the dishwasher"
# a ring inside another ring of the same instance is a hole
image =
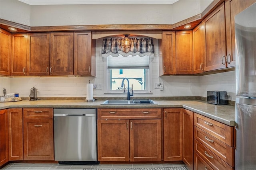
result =
[[[24,108],[23,118],[52,119],[52,108]]]

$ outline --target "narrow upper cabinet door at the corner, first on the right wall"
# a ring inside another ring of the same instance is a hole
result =
[[[200,23],[193,29],[193,68],[194,74],[204,72],[205,58],[205,29],[204,24]]]

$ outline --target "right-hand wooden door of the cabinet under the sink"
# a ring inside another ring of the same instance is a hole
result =
[[[130,161],[161,161],[161,140],[161,119],[130,120]]]

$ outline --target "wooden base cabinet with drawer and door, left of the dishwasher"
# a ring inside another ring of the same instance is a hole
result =
[[[23,109],[24,160],[54,160],[53,109]]]

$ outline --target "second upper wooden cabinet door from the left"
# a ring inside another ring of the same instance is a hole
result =
[[[27,43],[26,33],[12,34],[12,67],[11,76],[25,76],[27,63]]]

